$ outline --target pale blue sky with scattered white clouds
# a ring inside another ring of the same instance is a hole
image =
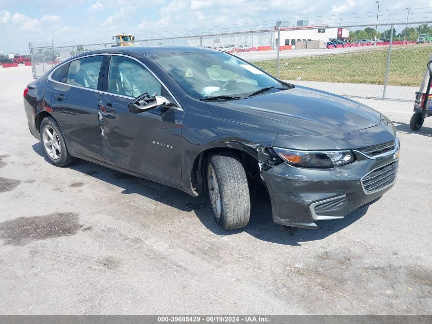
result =
[[[410,21],[432,21],[432,0],[381,0],[379,22],[405,22],[406,7]],[[374,0],[0,0],[0,51],[28,53],[29,42],[106,42],[117,33],[138,40],[263,29],[276,20],[375,24],[376,12]]]

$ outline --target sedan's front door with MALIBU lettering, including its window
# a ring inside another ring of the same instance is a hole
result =
[[[174,99],[139,61],[112,55],[106,92],[99,100],[99,123],[105,161],[147,177],[181,185],[180,142],[183,109],[160,106],[131,113],[135,97],[157,93]]]

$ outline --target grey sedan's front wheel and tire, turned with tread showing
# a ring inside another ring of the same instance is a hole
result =
[[[204,171],[213,217],[219,227],[233,230],[246,226],[251,215],[251,198],[238,155],[229,151],[211,154]]]

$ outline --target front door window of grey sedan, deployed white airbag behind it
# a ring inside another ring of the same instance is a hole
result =
[[[108,92],[135,98],[144,93],[161,95],[161,88],[161,83],[139,62],[124,56],[111,56]]]

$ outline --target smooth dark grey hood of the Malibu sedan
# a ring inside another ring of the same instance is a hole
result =
[[[298,86],[207,104],[216,118],[290,136],[344,134],[376,126],[381,120],[377,111],[359,102]]]

